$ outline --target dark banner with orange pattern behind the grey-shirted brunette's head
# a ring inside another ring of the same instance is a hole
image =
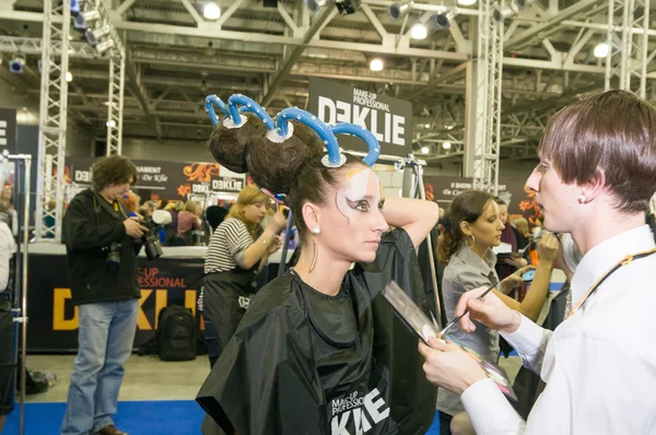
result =
[[[499,197],[508,204],[509,219],[524,216],[529,226],[535,225],[539,216],[535,192],[525,187],[525,179],[499,180]],[[450,201],[464,190],[472,188],[471,177],[424,177],[426,199],[436,201],[441,208],[448,209]]]

